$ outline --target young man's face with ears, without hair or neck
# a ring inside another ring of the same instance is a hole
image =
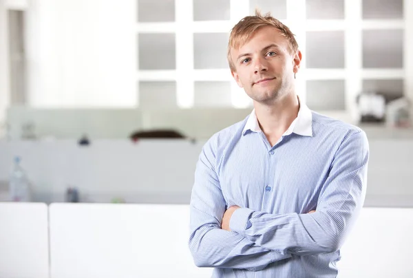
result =
[[[250,41],[231,50],[231,58],[235,81],[258,103],[274,103],[294,89],[301,53],[290,54],[288,41],[277,28],[260,28]]]

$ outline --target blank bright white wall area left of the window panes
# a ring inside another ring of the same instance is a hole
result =
[[[30,1],[28,104],[134,107],[135,6],[134,0]]]

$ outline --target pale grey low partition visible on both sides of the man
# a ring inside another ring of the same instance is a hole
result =
[[[63,201],[67,186],[77,186],[83,200],[187,204],[195,164],[204,141],[74,140],[0,142],[0,180],[8,180],[14,155],[33,182],[36,200]],[[412,140],[370,140],[366,206],[412,206]]]

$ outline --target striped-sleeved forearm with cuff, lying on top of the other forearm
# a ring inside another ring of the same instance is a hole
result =
[[[244,222],[246,228],[232,223],[231,229],[258,246],[295,255],[331,253],[341,246],[343,229],[337,228],[335,220],[327,213],[272,215],[248,208],[237,213],[248,211],[251,217]]]

